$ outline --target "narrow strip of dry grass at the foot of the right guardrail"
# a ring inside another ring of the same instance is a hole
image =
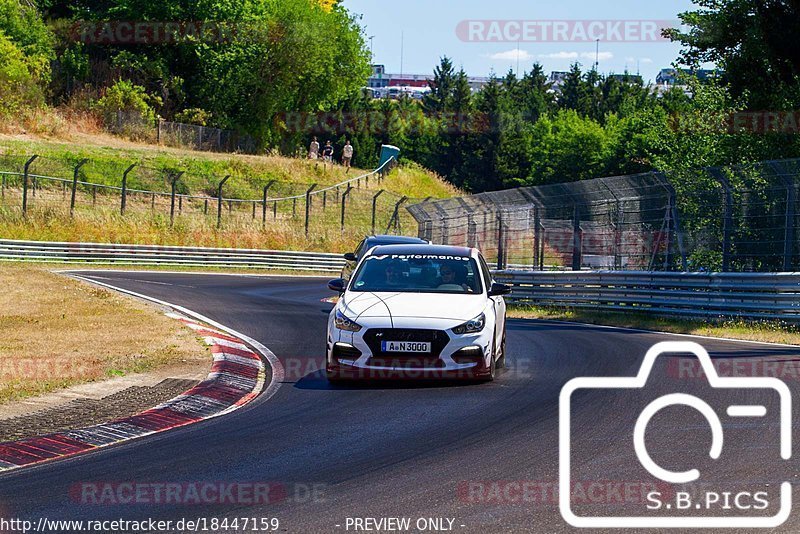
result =
[[[508,315],[519,319],[550,319],[673,334],[800,345],[800,329],[795,325],[776,321],[753,322],[738,319],[710,322],[699,319],[654,317],[643,313],[593,312],[535,306],[509,306]]]

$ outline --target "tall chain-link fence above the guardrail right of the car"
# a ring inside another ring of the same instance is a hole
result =
[[[409,206],[498,268],[800,270],[800,160],[598,178]]]

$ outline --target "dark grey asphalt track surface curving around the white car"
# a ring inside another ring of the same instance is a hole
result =
[[[277,517],[284,532],[353,532],[346,528],[348,517],[407,517],[412,525],[418,518],[450,518],[454,532],[572,531],[551,495],[533,492],[521,498],[513,491],[515,482],[524,481],[547,492],[558,480],[561,387],[577,376],[633,376],[653,344],[687,340],[510,321],[509,368],[494,383],[331,387],[319,371],[330,310],[321,302],[330,295],[325,279],[125,272],[88,276],[184,306],[258,340],[280,359],[284,380],[271,397],[229,416],[3,475],[2,517]],[[800,349],[794,347],[722,340],[702,344],[715,361],[743,358],[745,363],[778,360],[793,365],[800,360]],[[708,391],[703,380],[676,374],[682,361],[659,359],[648,395],[702,394],[724,412],[730,397]],[[740,371],[747,373],[748,368],[743,365]],[[796,375],[787,380],[795,416],[798,383]],[[636,493],[637,482],[652,481],[639,466],[630,438],[646,395],[630,393],[586,392],[574,398],[576,488],[597,481],[614,482],[616,486],[608,487],[618,488],[622,482]],[[751,394],[734,402],[766,405],[766,419],[778,406],[776,398]],[[691,410],[662,412],[651,423],[647,443],[654,459],[667,468],[713,471],[717,478],[712,486],[756,484],[775,490],[789,481],[797,501],[800,464],[796,457],[779,457],[776,421],[723,418],[725,452],[713,466],[703,459],[710,431]],[[792,434],[796,442],[796,423]],[[79,494],[94,483],[203,481],[272,482],[285,498],[256,505],[247,499],[235,505],[91,504]],[[502,488],[505,494],[498,498],[489,489],[475,489],[481,487]],[[618,492],[608,489],[578,503],[576,513],[628,515],[623,512],[641,511],[635,500],[628,496],[620,502]],[[774,513],[771,502],[769,511]],[[775,531],[800,531],[798,517],[800,510]]]

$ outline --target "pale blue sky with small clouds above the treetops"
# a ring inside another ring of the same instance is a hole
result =
[[[343,4],[361,16],[366,36],[374,36],[374,63],[386,65],[387,72],[401,73],[401,41],[404,74],[431,73],[444,55],[471,76],[491,72],[502,76],[509,68],[516,71],[518,60],[520,73],[535,61],[548,73],[568,70],[575,61],[590,69],[597,57],[595,38],[600,35],[600,72],[627,69],[640,72],[645,81],[670,67],[681,47],[663,40],[626,39],[620,21],[631,35],[651,35],[652,21],[677,25],[677,14],[693,7],[691,0],[343,0]],[[566,33],[555,38],[555,25],[566,28]],[[555,42],[542,42],[543,38]]]

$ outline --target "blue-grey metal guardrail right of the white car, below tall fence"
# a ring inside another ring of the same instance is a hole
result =
[[[498,271],[509,299],[539,306],[800,322],[800,273]]]

